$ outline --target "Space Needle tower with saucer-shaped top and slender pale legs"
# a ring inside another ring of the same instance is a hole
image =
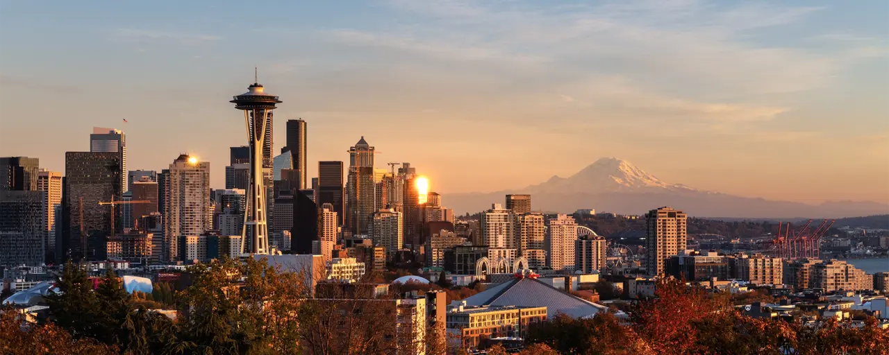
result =
[[[268,254],[268,223],[266,186],[262,171],[262,143],[266,138],[266,126],[271,111],[281,103],[278,97],[265,91],[254,76],[247,92],[231,101],[235,108],[244,111],[247,138],[250,141],[250,186],[247,187],[247,208],[244,227],[241,230],[241,254]]]

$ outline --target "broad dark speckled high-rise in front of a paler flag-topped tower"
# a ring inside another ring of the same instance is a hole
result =
[[[110,201],[112,196],[119,199],[124,181],[121,170],[118,152],[65,154],[65,220],[61,240],[64,259],[105,259],[105,243],[112,229],[111,209],[99,202]],[[115,220],[119,223],[120,216]]]

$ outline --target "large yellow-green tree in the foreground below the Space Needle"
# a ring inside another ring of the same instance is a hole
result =
[[[300,353],[298,315],[305,278],[263,259],[224,257],[189,268],[194,284],[179,296],[175,346],[201,354]]]

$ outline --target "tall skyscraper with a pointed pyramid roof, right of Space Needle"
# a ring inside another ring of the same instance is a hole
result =
[[[348,183],[346,184],[346,225],[354,235],[370,233],[376,205],[373,174],[373,147],[364,137],[349,148]]]

